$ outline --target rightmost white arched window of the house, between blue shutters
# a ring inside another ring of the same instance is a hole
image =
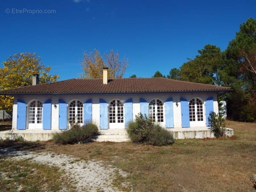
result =
[[[203,102],[198,98],[189,101],[189,121],[204,121]]]

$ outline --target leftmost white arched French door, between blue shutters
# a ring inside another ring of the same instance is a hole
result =
[[[28,128],[43,128],[43,103],[34,100],[29,104],[28,109]]]

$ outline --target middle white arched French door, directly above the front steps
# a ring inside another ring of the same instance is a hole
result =
[[[120,100],[109,104],[109,129],[124,128],[124,105]]]

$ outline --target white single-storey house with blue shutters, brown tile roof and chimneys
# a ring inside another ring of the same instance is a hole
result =
[[[217,93],[229,87],[166,78],[69,79],[0,92],[14,96],[12,129],[22,133],[65,130],[70,120],[93,121],[101,130],[124,130],[138,113],[170,130],[208,127],[211,111],[218,113]],[[111,132],[111,131],[109,131]],[[201,137],[201,136],[200,136]],[[203,137],[203,136],[202,136]]]

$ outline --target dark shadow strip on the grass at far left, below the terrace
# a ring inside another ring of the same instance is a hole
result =
[[[3,149],[3,148],[15,149],[18,151],[37,151],[37,150],[45,149],[45,144],[41,142],[28,142],[28,141],[13,142],[13,141],[2,140],[0,141],[0,149]]]

